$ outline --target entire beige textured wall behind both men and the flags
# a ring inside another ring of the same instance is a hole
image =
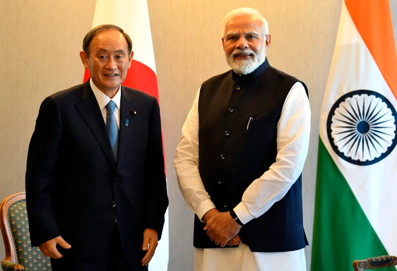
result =
[[[301,79],[309,89],[312,133],[303,172],[304,226],[309,242],[319,112],[341,4],[342,0],[244,1],[244,6],[258,9],[268,19],[272,33],[270,64]],[[95,0],[0,1],[0,199],[24,190],[27,147],[41,101],[82,82],[78,53],[91,28],[94,6]],[[168,168],[170,271],[193,271],[193,213],[177,188],[175,147],[202,81],[228,69],[220,20],[239,7],[238,0],[148,0]],[[391,10],[396,25],[394,0]],[[308,267],[310,250],[309,246]]]

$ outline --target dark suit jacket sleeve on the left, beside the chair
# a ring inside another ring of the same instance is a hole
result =
[[[27,155],[25,189],[32,246],[60,236],[51,190],[61,136],[60,114],[48,97],[40,106]]]

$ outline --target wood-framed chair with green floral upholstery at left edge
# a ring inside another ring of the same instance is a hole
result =
[[[1,261],[4,271],[51,271],[50,258],[39,248],[32,248],[26,211],[25,192],[6,197],[0,204],[0,227],[6,257]]]

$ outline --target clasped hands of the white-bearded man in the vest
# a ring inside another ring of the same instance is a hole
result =
[[[215,241],[216,245],[226,246],[241,229],[239,223],[233,220],[229,212],[217,213],[208,219],[204,230],[210,236],[211,241]]]

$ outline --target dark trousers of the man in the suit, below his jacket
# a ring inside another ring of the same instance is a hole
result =
[[[95,248],[93,248],[94,250]],[[52,271],[147,271],[148,267],[140,263],[131,263],[123,253],[117,224],[114,224],[112,237],[108,246],[108,255],[90,261],[71,259],[67,256],[51,259]]]

